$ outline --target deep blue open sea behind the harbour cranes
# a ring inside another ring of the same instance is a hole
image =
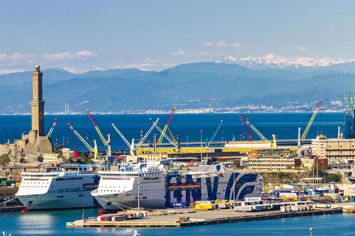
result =
[[[244,115],[249,118],[250,122],[268,139],[272,139],[271,134],[277,135],[278,139],[297,139],[297,127],[302,127],[301,132],[303,132],[312,113],[248,113]],[[158,125],[163,128],[168,120],[169,114],[93,115],[93,117],[104,135],[112,134],[112,149],[127,149],[127,145],[118,133],[116,133],[111,123],[114,123],[127,140],[131,142],[132,138],[140,139],[141,128],[143,135],[147,132],[152,125],[149,118],[156,120],[159,117],[160,121]],[[88,143],[90,145],[93,145],[93,139],[97,139],[99,149],[104,149],[104,145],[100,141],[87,115],[46,115],[46,134],[55,118],[58,118],[58,123],[51,135],[53,144],[56,142],[56,139],[58,139],[58,143],[63,144],[62,137],[64,137],[66,143],[69,137],[70,144],[68,144],[68,148],[78,148],[82,151],[86,150],[86,146],[84,146],[69,129],[67,125],[69,122],[84,138],[88,133]],[[239,114],[175,114],[170,122],[169,128],[174,135],[180,134],[180,142],[186,142],[186,136],[189,136],[189,142],[200,142],[200,129],[202,129],[202,140],[204,142],[205,139],[211,139],[221,120],[224,122],[215,136],[214,141],[221,141],[222,137],[224,141],[232,140],[233,135],[236,140],[240,140],[240,135],[241,137],[243,136],[244,129],[241,125]],[[307,138],[315,138],[318,133],[320,134],[321,130],[323,134],[329,138],[337,137],[337,128],[338,126],[343,126],[343,123],[344,113],[319,112],[313,121]],[[6,143],[7,139],[12,141],[15,139],[15,136],[21,138],[21,133],[28,133],[30,129],[31,116],[0,116],[0,143]],[[254,140],[260,140],[251,129],[249,129],[249,132],[253,133]],[[148,139],[153,140],[153,133],[159,133],[159,131],[154,129],[145,143],[147,143]],[[163,140],[163,142],[167,142],[167,140]]]

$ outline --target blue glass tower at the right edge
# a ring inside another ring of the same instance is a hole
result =
[[[355,92],[345,93],[345,138],[355,138]]]

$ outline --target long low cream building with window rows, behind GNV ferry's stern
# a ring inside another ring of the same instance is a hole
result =
[[[275,159],[275,158],[262,158],[262,159],[249,159],[248,169],[250,170],[281,170],[281,169],[295,169],[301,165],[301,159]]]

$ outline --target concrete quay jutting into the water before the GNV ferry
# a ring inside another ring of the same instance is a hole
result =
[[[141,219],[123,221],[93,221],[76,220],[67,222],[67,227],[182,227],[195,225],[209,225],[221,223],[233,223],[251,220],[263,220],[285,217],[298,217],[305,215],[321,215],[342,213],[343,209],[318,208],[309,211],[265,211],[265,212],[235,212],[229,209],[215,209],[212,211],[191,211],[190,209],[164,210],[148,214]],[[119,214],[119,213],[118,213]],[[183,219],[183,220],[180,220]]]

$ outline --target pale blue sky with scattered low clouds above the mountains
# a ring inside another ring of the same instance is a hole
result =
[[[1,1],[0,74],[160,71],[222,56],[352,59],[355,1]]]

